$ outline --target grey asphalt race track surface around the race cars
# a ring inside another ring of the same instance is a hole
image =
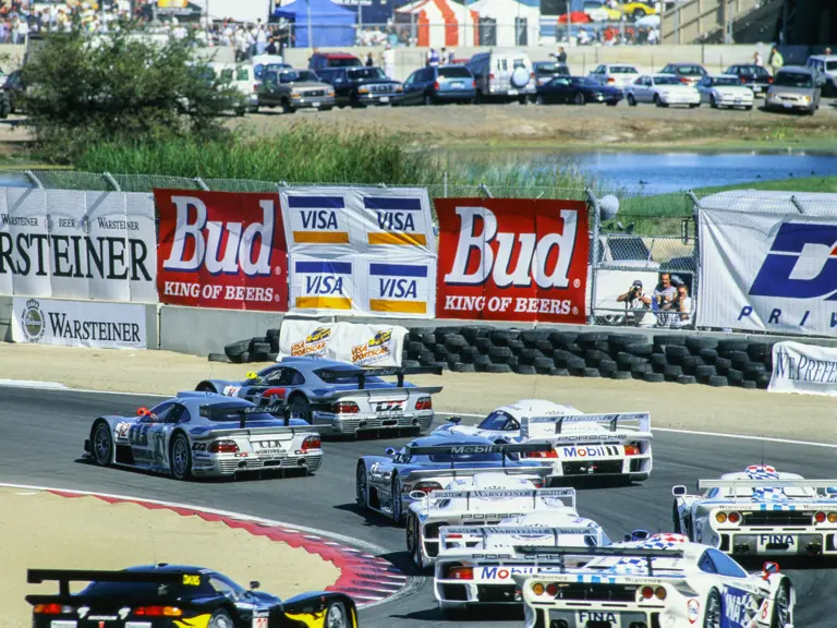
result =
[[[0,388],[0,482],[57,488],[99,491],[234,510],[298,526],[310,526],[374,543],[384,557],[411,573],[404,532],[386,519],[354,505],[357,457],[381,452],[386,439],[327,442],[323,468],[312,478],[239,482],[175,482],[169,478],[80,461],[92,420],[98,414],[132,415],[159,399],[71,390]],[[657,433],[654,472],[641,484],[619,488],[580,490],[579,510],[620,538],[632,529],[669,531],[674,484],[693,486],[699,478],[717,478],[764,461],[779,470],[810,478],[835,473],[837,451],[830,448],[763,443],[688,434]],[[222,569],[222,566],[216,566]],[[834,570],[788,570],[797,590],[796,628],[832,628],[837,616]],[[430,582],[417,581],[412,592],[393,602],[364,609],[362,628],[417,628],[487,625],[522,626],[514,609],[474,613],[465,621],[446,621],[435,607]]]

